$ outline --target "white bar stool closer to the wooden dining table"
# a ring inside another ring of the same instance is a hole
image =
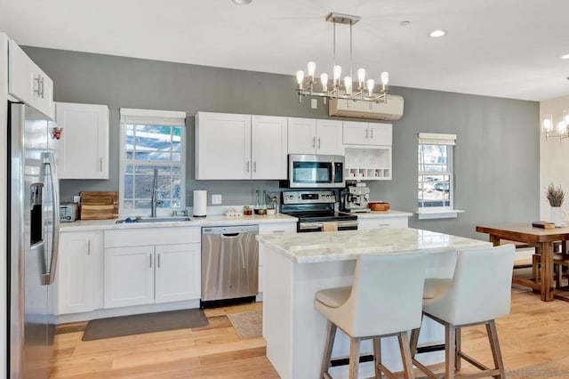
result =
[[[461,370],[461,359],[483,370],[484,376],[505,377],[494,319],[509,314],[514,251],[513,245],[504,245],[459,252],[453,280],[439,282],[437,294],[423,299],[423,315],[445,326],[445,378],[453,378],[455,370]],[[426,287],[431,287],[429,281],[426,279]],[[486,327],[494,368],[461,350],[461,327],[479,324]],[[437,375],[414,358],[419,333],[415,329],[411,335],[413,364],[429,378],[435,378]],[[461,378],[482,375],[478,372]]]

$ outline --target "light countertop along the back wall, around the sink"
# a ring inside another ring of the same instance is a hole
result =
[[[124,230],[138,228],[172,228],[172,227],[202,227],[202,226],[221,226],[221,225],[247,225],[260,223],[276,223],[276,222],[297,222],[296,217],[286,214],[271,214],[250,216],[226,216],[223,214],[208,215],[207,217],[189,218],[191,221],[174,221],[174,222],[129,222],[115,223],[116,220],[78,220],[76,222],[61,222],[60,231],[80,231],[80,230]]]

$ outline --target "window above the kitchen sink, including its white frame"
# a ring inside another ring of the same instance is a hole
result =
[[[149,215],[153,191],[156,214],[185,209],[186,113],[120,109],[120,114],[120,214]]]

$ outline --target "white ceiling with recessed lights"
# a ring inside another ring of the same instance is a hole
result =
[[[547,4],[547,5],[545,5]],[[354,73],[380,82],[543,101],[569,95],[567,0],[0,0],[0,31],[19,44],[291,76],[332,77],[329,12],[354,26]],[[402,21],[410,25],[402,26]],[[429,37],[436,28],[448,31]],[[337,58],[349,68],[349,27]],[[343,75],[342,75],[343,76]]]

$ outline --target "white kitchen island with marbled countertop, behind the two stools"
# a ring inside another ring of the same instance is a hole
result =
[[[455,252],[492,244],[428,230],[385,228],[325,233],[258,236],[264,254],[263,336],[267,357],[283,379],[317,378],[325,343],[325,317],[314,310],[315,294],[323,288],[349,286],[359,254],[392,254],[421,250],[429,254],[427,276],[452,278]],[[405,278],[402,278],[405,280]],[[397,291],[393,288],[381,290]],[[421,343],[442,343],[443,328],[426,319]],[[402,369],[397,338],[381,342],[382,360],[395,371]],[[362,353],[371,352],[370,341]],[[349,338],[340,329],[333,358],[349,356]],[[441,351],[421,354],[426,364],[444,360]],[[347,366],[334,367],[334,377],[346,376]],[[360,376],[373,376],[373,364],[362,364]]]

